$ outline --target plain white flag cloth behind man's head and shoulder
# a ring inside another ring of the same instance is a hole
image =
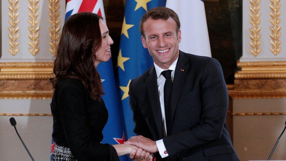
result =
[[[204,2],[167,0],[166,7],[173,9],[181,22],[182,40],[179,49],[194,55],[212,57]]]

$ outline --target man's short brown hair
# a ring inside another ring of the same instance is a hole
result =
[[[176,32],[178,33],[181,27],[181,23],[179,20],[179,16],[177,15],[177,13],[175,11],[173,11],[172,9],[169,9],[167,7],[156,7],[153,9],[150,9],[148,12],[146,12],[141,20],[140,20],[140,24],[139,24],[139,30],[140,30],[140,34],[145,38],[144,35],[144,31],[143,31],[143,23],[149,18],[151,17],[153,20],[158,20],[158,19],[164,19],[165,21],[168,20],[169,17],[173,18],[176,23],[177,23],[177,30]]]

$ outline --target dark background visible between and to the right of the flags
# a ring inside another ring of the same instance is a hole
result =
[[[103,0],[116,68],[126,0]],[[242,56],[242,0],[205,0],[207,27],[212,57],[222,65],[227,84],[234,83],[236,61]],[[139,31],[138,31],[139,32]],[[117,71],[116,69],[114,70]]]

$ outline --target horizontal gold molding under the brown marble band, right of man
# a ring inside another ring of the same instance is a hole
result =
[[[286,98],[286,89],[244,89],[229,90],[232,99],[262,99],[262,98]]]

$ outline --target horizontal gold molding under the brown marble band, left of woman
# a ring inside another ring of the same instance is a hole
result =
[[[50,91],[0,91],[0,99],[52,99]]]

